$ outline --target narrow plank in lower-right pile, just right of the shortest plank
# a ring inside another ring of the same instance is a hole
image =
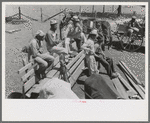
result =
[[[144,99],[145,94],[143,93],[143,91],[133,82],[133,80],[130,78],[130,76],[128,74],[125,73],[125,76],[129,80],[130,84],[134,87],[134,89],[136,90],[136,92],[140,95],[140,97],[142,99]]]

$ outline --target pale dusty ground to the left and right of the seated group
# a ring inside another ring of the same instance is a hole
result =
[[[6,97],[12,91],[21,92],[21,80],[17,71],[23,66],[22,57],[26,54],[21,53],[21,48],[28,44],[29,40],[32,39],[33,34],[39,29],[47,32],[49,29],[49,21],[46,23],[33,23],[33,30],[28,30],[21,25],[10,25],[6,24],[6,30],[21,29],[19,32],[13,34],[6,33],[6,46],[5,46],[5,57],[6,57],[6,74],[5,74],[5,86],[6,86]],[[119,60],[124,61],[129,69],[137,76],[140,81],[145,82],[145,54],[143,52],[120,52],[117,49],[110,49],[105,51],[106,56],[113,58],[115,65]],[[116,66],[117,71],[120,71]],[[120,71],[121,72],[121,71]],[[76,87],[74,87],[76,88]],[[76,89],[75,89],[76,90]],[[80,91],[79,91],[80,92]],[[82,92],[80,92],[82,93]],[[82,98],[82,95],[80,95]]]

